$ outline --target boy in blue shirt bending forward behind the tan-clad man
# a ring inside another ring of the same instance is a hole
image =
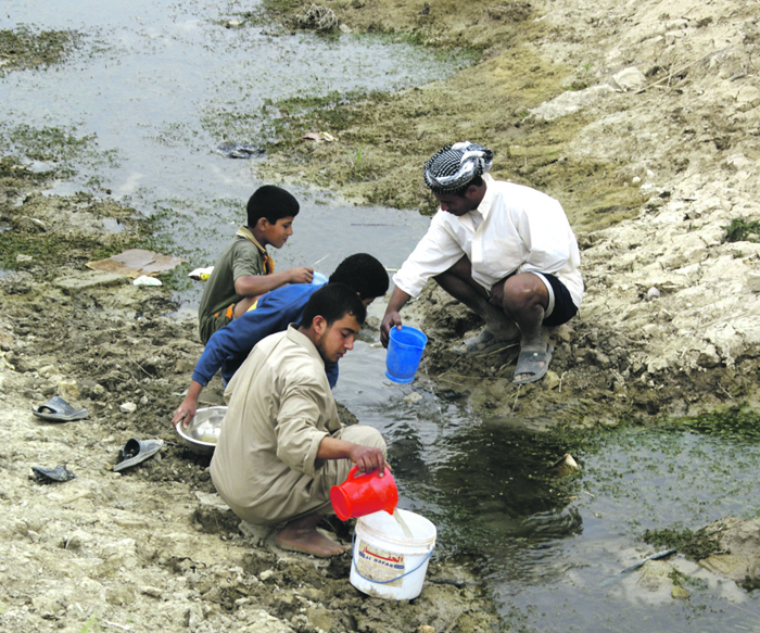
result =
[[[198,408],[198,398],[214,375],[221,370],[225,384],[243,364],[253,346],[263,338],[288,328],[301,319],[308,299],[327,282],[353,288],[368,306],[388,291],[388,273],[371,255],[357,253],[343,259],[329,280],[316,273],[312,283],[293,283],[267,292],[255,307],[217,330],[206,343],[182,403],[174,412],[172,423],[180,420],[187,427]],[[325,366],[330,387],[338,382],[338,364]]]

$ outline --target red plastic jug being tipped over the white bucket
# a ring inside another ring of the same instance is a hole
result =
[[[338,518],[347,521],[380,510],[392,515],[398,503],[398,490],[391,471],[387,468],[382,477],[377,470],[356,477],[358,470],[354,466],[343,483],[330,489],[330,502]]]

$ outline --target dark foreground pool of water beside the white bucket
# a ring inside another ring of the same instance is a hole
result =
[[[335,395],[382,430],[400,507],[435,522],[436,557],[484,582],[511,630],[685,632],[695,618],[704,632],[757,629],[757,592],[719,584],[683,558],[694,579],[687,602],[619,575],[662,549],[643,542],[647,529],[755,517],[757,439],[677,425],[535,434],[520,420],[472,415],[425,371],[391,382],[384,355],[371,342],[347,355]],[[557,479],[549,467],[566,452],[582,473]]]

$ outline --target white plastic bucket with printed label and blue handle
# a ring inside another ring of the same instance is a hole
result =
[[[350,581],[377,598],[410,600],[422,591],[428,560],[435,547],[435,526],[408,510],[396,512],[410,537],[392,515],[382,510],[357,520]]]

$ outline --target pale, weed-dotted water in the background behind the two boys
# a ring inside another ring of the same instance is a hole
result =
[[[230,159],[218,149],[261,142],[263,119],[254,115],[266,100],[395,90],[464,63],[461,56],[444,59],[379,38],[292,36],[251,23],[225,27],[255,8],[204,0],[71,0],[52,10],[42,0],[4,2],[0,28],[73,29],[83,37],[65,65],[2,78],[0,134],[40,131],[31,143],[43,143],[41,132],[50,130],[89,139],[86,150],[69,148],[66,154],[77,176],[52,192],[110,192],[143,213],[161,212],[170,218],[176,248],[193,267],[206,266],[264,183],[256,177],[259,157]],[[243,119],[244,126],[236,123]],[[23,143],[15,151],[28,154]],[[45,161],[33,165],[49,168]],[[417,214],[356,208],[329,192],[289,188],[302,213],[294,237],[277,253],[280,267],[319,263],[330,273],[360,248],[393,268],[427,225]],[[199,288],[183,294],[190,307]]]

